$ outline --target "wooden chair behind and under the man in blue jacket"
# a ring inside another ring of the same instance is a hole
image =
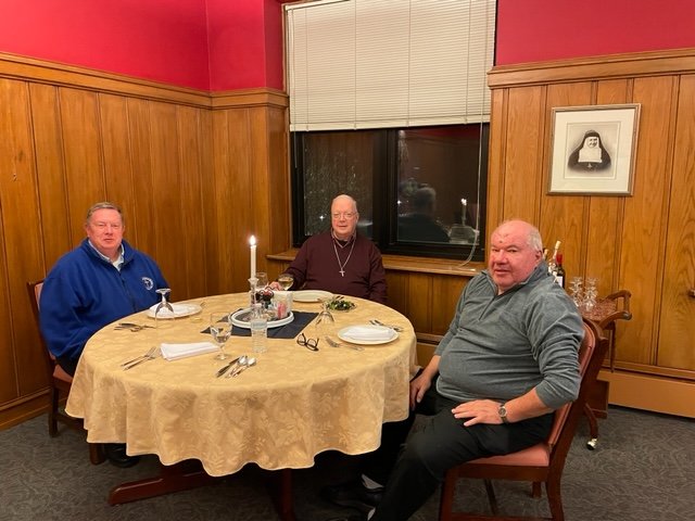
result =
[[[79,432],[85,432],[83,421],[78,418],[73,418],[60,410],[61,402],[67,399],[70,387],[73,383],[73,377],[66,373],[61,366],[55,361],[55,357],[51,354],[46,345],[46,340],[40,332],[39,326],[39,301],[41,297],[41,289],[43,288],[43,280],[37,280],[36,282],[27,282],[26,289],[29,293],[29,302],[31,303],[31,310],[34,312],[34,318],[36,320],[37,329],[39,330],[39,342],[41,343],[41,352],[43,353],[43,360],[46,361],[46,373],[49,383],[49,410],[48,410],[48,433],[51,437],[58,435],[58,422],[64,423]],[[90,443],[89,444],[89,460],[93,465],[99,465],[104,461],[104,455],[101,445]]]

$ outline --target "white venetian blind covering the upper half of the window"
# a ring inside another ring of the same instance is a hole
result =
[[[490,120],[495,0],[285,5],[292,130]]]

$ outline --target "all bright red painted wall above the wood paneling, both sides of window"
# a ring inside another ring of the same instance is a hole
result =
[[[0,0],[0,52],[203,90],[282,89],[288,0]],[[695,0],[498,0],[500,65],[695,47]]]

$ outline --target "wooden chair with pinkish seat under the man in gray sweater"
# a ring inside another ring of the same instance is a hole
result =
[[[518,453],[480,458],[451,469],[446,473],[442,486],[440,521],[539,519],[500,516],[491,480],[531,482],[533,484],[533,497],[540,497],[540,484],[542,482],[545,483],[552,517],[543,519],[552,519],[554,521],[563,521],[565,519],[560,495],[560,479],[565,459],[574,437],[579,419],[584,411],[587,393],[596,381],[596,376],[608,348],[608,340],[602,335],[601,329],[594,322],[584,319],[584,341],[579,354],[582,372],[579,396],[571,404],[567,404],[555,411],[555,421],[547,441]],[[453,511],[456,480],[458,478],[484,480],[492,514]]]

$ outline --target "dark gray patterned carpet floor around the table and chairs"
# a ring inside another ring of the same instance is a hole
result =
[[[599,420],[596,450],[585,448],[582,422],[568,456],[563,498],[568,521],[695,520],[695,421],[611,407]],[[220,447],[233,450],[233,447]],[[213,485],[111,507],[116,484],[152,475],[148,457],[130,469],[92,466],[84,439],[63,431],[51,439],[46,417],[0,431],[0,521],[273,521],[267,474],[248,467]],[[293,472],[298,521],[323,521],[345,512],[326,504],[318,490],[354,470],[354,459],[328,453],[312,469]],[[496,483],[504,513],[547,513],[545,498],[533,499],[526,484]],[[457,500],[486,510],[482,483],[464,481]],[[439,494],[412,518],[438,518]]]

